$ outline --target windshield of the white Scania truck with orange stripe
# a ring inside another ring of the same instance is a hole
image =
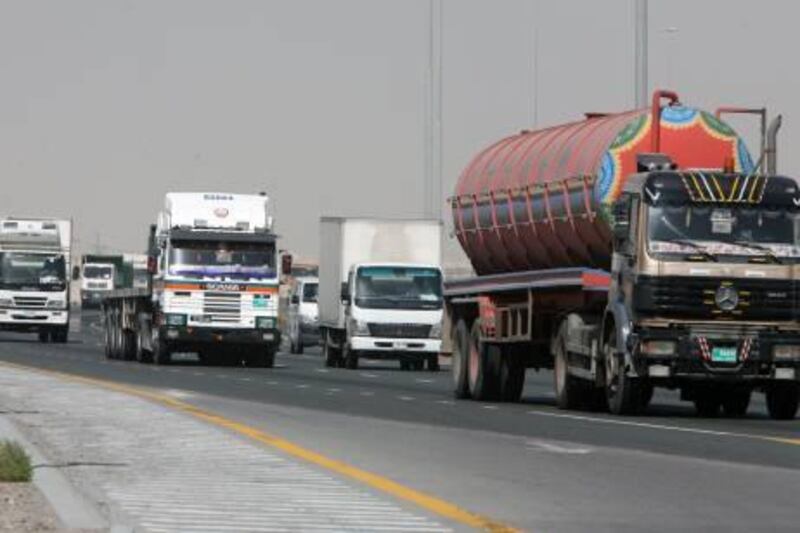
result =
[[[183,241],[169,251],[169,274],[199,278],[274,279],[275,245]]]

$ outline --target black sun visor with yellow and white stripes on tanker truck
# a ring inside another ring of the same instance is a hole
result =
[[[793,178],[718,172],[654,172],[642,198],[650,205],[744,204],[798,209],[800,189]]]

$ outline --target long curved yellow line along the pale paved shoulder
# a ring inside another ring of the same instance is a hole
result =
[[[171,407],[173,409],[177,409],[184,413],[190,414],[195,418],[204,420],[206,422],[214,424],[215,426],[228,429],[240,435],[244,435],[252,440],[255,440],[262,444],[266,444],[267,446],[271,446],[278,450],[281,450],[288,455],[297,457],[299,459],[303,459],[304,461],[308,461],[312,464],[315,464],[331,472],[335,472],[350,479],[360,481],[361,483],[364,483],[365,485],[368,485],[380,492],[416,504],[419,507],[422,507],[423,509],[426,509],[436,515],[450,519],[459,524],[469,526],[475,529],[489,531],[492,533],[516,533],[517,531],[519,531],[516,528],[511,527],[507,524],[503,524],[501,522],[492,520],[485,516],[472,513],[470,511],[458,507],[453,503],[447,502],[430,494],[417,491],[410,487],[406,487],[405,485],[397,483],[396,481],[392,481],[391,479],[383,477],[379,474],[362,470],[358,467],[349,465],[342,461],[337,461],[336,459],[332,459],[330,457],[322,455],[321,453],[309,450],[307,448],[289,442],[288,440],[276,437],[274,435],[269,435],[254,427],[242,424],[240,422],[236,422],[235,420],[231,420],[229,418],[225,418],[224,416],[215,414],[211,411],[206,411],[205,409],[201,409],[190,403],[176,400],[175,398],[171,398],[170,396],[167,396],[165,394],[160,394],[158,392],[146,390],[143,388],[134,387],[130,385],[123,385],[121,383],[115,383],[112,381],[106,381],[98,378],[77,376],[66,372],[59,372],[57,370],[34,368],[25,365],[19,365],[16,363],[8,363],[5,361],[0,362],[0,365],[16,367],[27,371],[40,372],[43,374],[50,374],[59,377],[61,379],[65,379],[67,381],[74,381],[89,385],[95,385],[116,392],[121,392],[132,396],[138,396],[140,398],[145,398],[153,402],[159,403],[161,405]]]

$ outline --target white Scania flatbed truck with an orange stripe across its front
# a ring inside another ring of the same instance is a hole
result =
[[[279,267],[267,206],[263,195],[168,193],[150,230],[149,287],[103,299],[107,356],[272,367]]]

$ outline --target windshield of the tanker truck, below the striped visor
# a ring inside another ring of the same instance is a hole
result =
[[[774,262],[800,259],[798,213],[763,206],[662,205],[648,208],[648,252],[701,252]],[[711,254],[710,256],[708,254]]]

